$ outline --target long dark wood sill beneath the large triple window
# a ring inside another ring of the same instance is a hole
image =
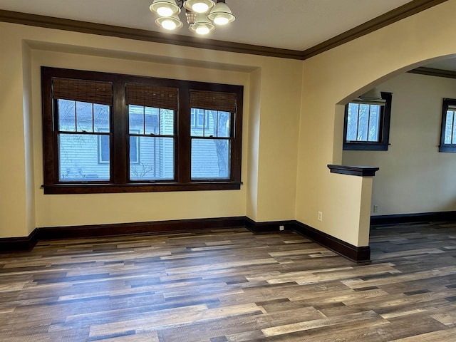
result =
[[[44,195],[112,194],[122,192],[169,192],[240,190],[242,182],[192,182],[192,183],[128,183],[128,184],[53,184],[42,185]]]

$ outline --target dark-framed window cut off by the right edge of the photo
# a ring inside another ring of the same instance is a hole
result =
[[[439,151],[456,152],[456,99],[454,98],[443,99]]]

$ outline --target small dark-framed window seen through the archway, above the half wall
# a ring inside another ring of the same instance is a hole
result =
[[[343,150],[388,150],[391,93],[381,101],[353,100],[345,108]]]

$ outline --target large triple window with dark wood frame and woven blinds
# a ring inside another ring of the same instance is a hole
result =
[[[240,188],[242,86],[41,72],[46,194]]]

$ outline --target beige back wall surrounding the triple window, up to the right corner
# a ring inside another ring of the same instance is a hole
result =
[[[0,157],[9,160],[0,168],[0,237],[26,236],[34,227],[247,213],[258,222],[293,217],[301,61],[6,23],[0,23],[0,43],[0,84],[7,95],[0,110]],[[43,195],[40,66],[243,85],[242,189]],[[271,133],[281,142],[274,149],[267,143]],[[280,187],[266,180],[270,175],[283,178]],[[277,210],[259,200],[260,185],[271,200],[280,199]]]

